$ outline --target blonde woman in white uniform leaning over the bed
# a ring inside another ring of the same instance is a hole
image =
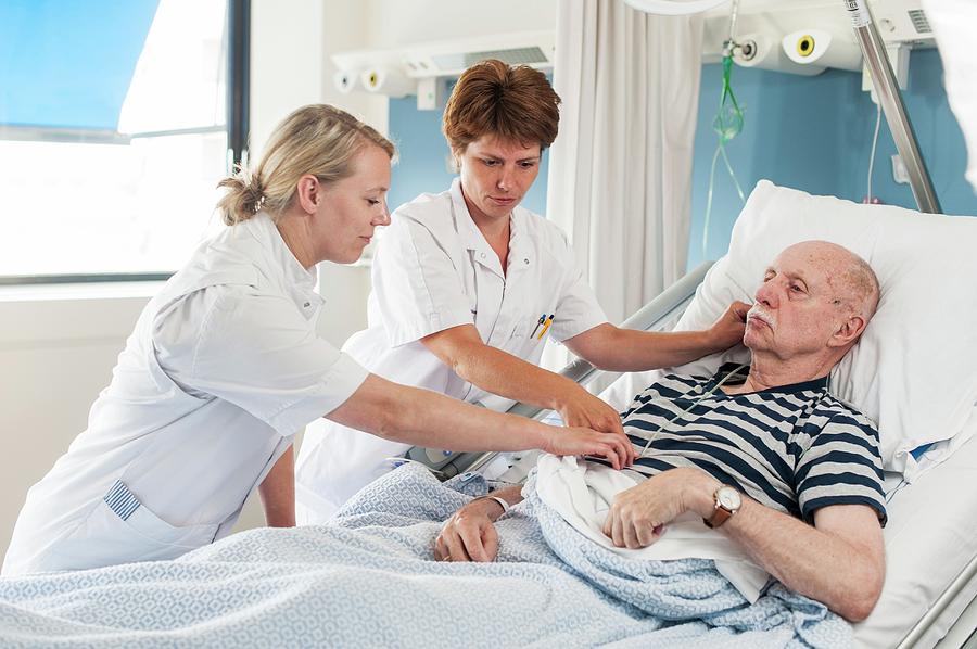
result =
[[[221,183],[228,227],[142,311],[88,430],[27,494],[4,575],[178,557],[229,534],[253,489],[269,525],[293,525],[292,438],[321,417],[394,444],[630,461],[621,435],[397,385],[318,338],[330,313],[315,266],[355,262],[390,222],[393,152],[310,105],[278,126],[253,174]]]

